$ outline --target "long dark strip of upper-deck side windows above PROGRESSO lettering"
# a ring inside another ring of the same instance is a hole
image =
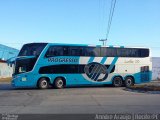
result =
[[[149,57],[149,49],[90,46],[51,46],[46,53],[46,57],[53,56]]]

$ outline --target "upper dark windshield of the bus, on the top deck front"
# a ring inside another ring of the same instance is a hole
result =
[[[39,56],[47,43],[30,43],[23,45],[18,56]]]

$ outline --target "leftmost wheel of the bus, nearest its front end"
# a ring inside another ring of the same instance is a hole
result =
[[[48,89],[49,88],[49,82],[47,78],[41,78],[38,81],[38,88],[39,89]]]

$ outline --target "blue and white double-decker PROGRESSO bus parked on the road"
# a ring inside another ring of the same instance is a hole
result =
[[[29,43],[13,73],[14,87],[106,85],[129,87],[151,81],[150,49],[124,46]]]

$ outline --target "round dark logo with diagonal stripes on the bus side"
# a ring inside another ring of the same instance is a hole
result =
[[[93,81],[101,82],[108,77],[107,67],[97,62],[87,64],[84,72]]]

